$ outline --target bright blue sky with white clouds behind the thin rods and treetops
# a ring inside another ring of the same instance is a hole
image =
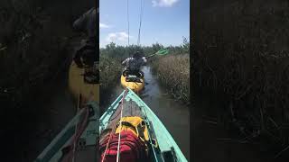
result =
[[[144,17],[140,45],[155,42],[164,46],[182,44],[190,37],[190,0],[143,0]],[[113,41],[127,45],[127,0],[99,1],[99,46]],[[129,41],[137,44],[141,0],[128,0]]]

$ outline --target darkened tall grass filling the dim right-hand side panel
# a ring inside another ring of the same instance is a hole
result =
[[[194,92],[222,101],[222,108],[210,110],[228,114],[224,121],[245,136],[288,144],[282,125],[289,123],[289,3],[202,4],[194,36]]]

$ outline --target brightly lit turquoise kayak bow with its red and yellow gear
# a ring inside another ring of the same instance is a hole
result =
[[[100,117],[99,132],[103,161],[187,161],[162,121],[129,88]]]

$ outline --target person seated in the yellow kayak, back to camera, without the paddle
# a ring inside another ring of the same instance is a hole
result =
[[[136,51],[132,58],[126,58],[122,65],[126,66],[125,75],[143,75],[141,72],[141,67],[144,66],[147,62],[147,59],[139,52]],[[140,74],[141,73],[141,74]],[[144,76],[144,75],[143,75]]]

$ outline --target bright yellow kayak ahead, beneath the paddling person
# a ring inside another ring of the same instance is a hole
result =
[[[128,75],[128,76],[121,75],[120,83],[124,87],[130,88],[135,93],[139,93],[144,89],[144,77],[141,78],[135,75]]]

